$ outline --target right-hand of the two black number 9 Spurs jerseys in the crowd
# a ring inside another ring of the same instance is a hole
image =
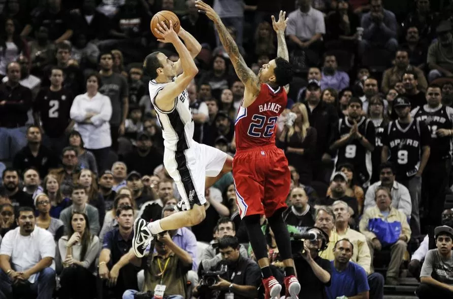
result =
[[[422,121],[411,119],[409,124],[402,124],[396,120],[387,125],[382,144],[390,149],[389,161],[395,166],[397,181],[408,180],[417,173],[422,148],[430,143],[428,126]]]

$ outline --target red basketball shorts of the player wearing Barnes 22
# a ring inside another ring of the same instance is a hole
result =
[[[241,218],[270,217],[285,208],[291,183],[288,160],[280,148],[268,145],[238,150],[233,160],[236,203]]]

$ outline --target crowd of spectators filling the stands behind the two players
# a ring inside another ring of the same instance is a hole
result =
[[[270,16],[287,12],[296,76],[275,134],[300,297],[382,299],[407,275],[420,299],[453,296],[453,4],[207,3],[254,72],[276,56]],[[206,190],[199,225],[130,251],[134,219],[180,199],[142,70],[153,51],[178,59],[149,30],[160,10],[202,44],[193,138],[233,156],[244,85],[195,0],[0,0],[1,298],[263,297],[231,173]]]

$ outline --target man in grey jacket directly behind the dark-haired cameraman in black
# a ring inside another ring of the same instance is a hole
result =
[[[236,235],[236,227],[233,220],[226,217],[220,218],[215,227],[215,235],[217,238],[203,250],[201,255],[201,263],[203,264],[204,269],[210,269],[222,260],[222,254],[218,248],[218,240],[224,236],[234,237]],[[248,257],[247,249],[245,249],[242,244],[239,244],[239,253],[244,258]]]

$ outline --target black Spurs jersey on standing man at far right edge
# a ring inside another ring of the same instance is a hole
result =
[[[411,111],[412,118],[428,125],[431,134],[431,151],[429,161],[440,161],[451,158],[451,137],[439,137],[438,129],[451,130],[453,125],[453,108],[440,105],[431,108],[428,104],[418,106]]]

